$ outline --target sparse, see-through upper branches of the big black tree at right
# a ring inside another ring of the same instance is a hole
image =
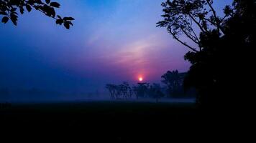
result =
[[[162,4],[165,12],[162,15],[164,20],[157,22],[157,26],[166,27],[174,39],[187,46],[191,51],[201,51],[204,46],[201,45],[200,34],[208,35],[215,30],[219,35],[225,34],[222,24],[232,14],[231,7],[226,6],[225,16],[219,17],[212,4],[213,0],[168,0]],[[199,33],[196,33],[193,28],[195,26],[199,29]],[[180,35],[185,35],[198,47],[193,47],[182,41]]]

